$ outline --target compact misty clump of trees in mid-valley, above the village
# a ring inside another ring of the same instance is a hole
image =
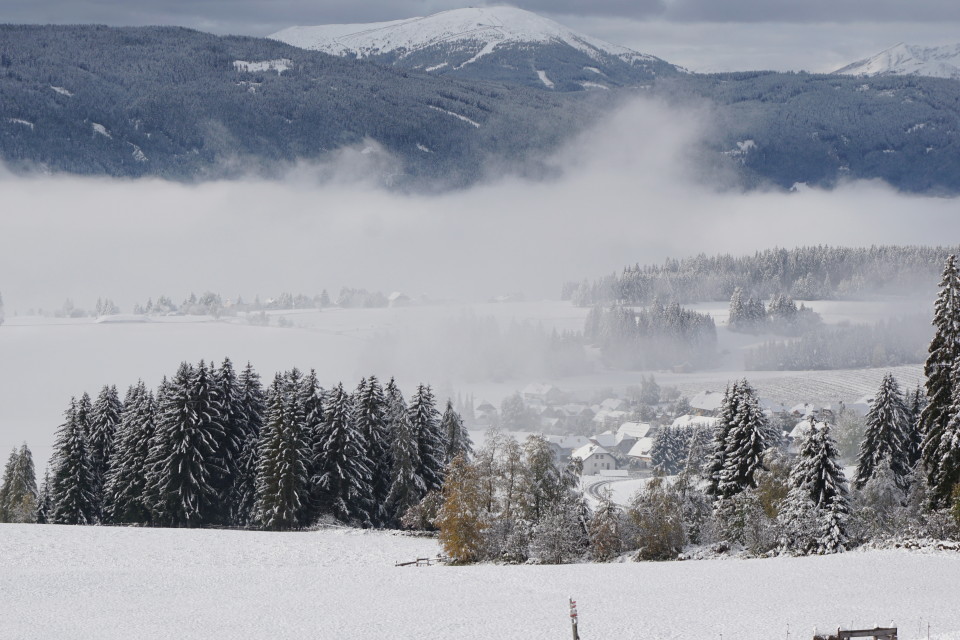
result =
[[[654,301],[649,309],[593,307],[583,330],[604,360],[625,369],[702,366],[716,355],[717,328],[708,314]]]

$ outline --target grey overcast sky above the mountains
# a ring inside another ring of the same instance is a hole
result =
[[[372,22],[463,0],[3,0],[0,21],[180,25],[263,36],[291,25]],[[502,4],[502,3],[486,3]],[[517,0],[511,3],[694,71],[832,71],[898,42],[960,41],[956,0]]]

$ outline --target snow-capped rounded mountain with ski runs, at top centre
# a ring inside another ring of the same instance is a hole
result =
[[[434,75],[561,91],[631,86],[683,72],[654,56],[513,7],[454,9],[392,22],[290,27],[269,37],[302,49]]]

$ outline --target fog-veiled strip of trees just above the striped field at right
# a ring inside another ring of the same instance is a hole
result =
[[[876,324],[818,327],[796,340],[766,342],[748,350],[748,371],[806,371],[892,367],[924,361],[930,319],[908,316]]]

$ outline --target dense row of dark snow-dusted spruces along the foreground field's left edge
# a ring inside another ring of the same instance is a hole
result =
[[[399,526],[446,464],[469,455],[460,416],[437,410],[429,386],[409,405],[391,380],[320,387],[316,374],[277,374],[267,389],[239,374],[180,365],[156,392],[71,400],[57,433],[38,522],[168,527],[303,528],[321,519]]]

